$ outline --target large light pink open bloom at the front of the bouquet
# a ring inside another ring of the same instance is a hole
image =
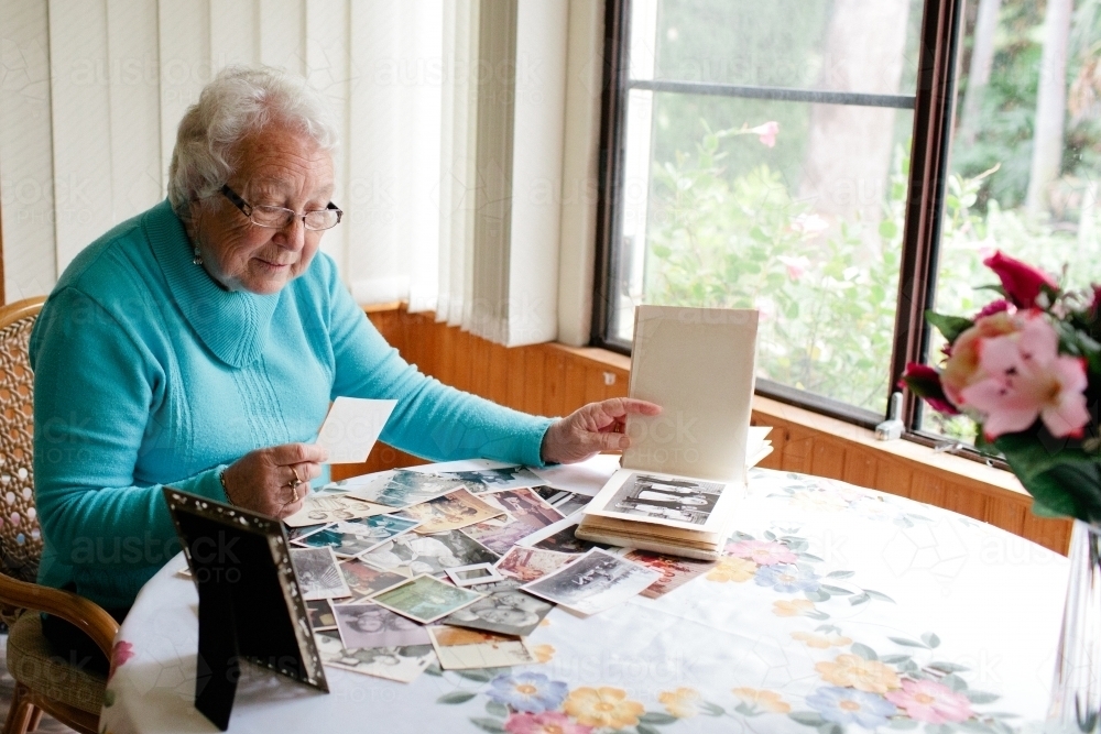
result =
[[[1040,311],[1026,314],[1020,331],[979,342],[983,379],[960,396],[985,416],[988,439],[1025,430],[1037,417],[1055,437],[1082,435],[1090,419],[1086,361],[1062,357],[1058,348],[1059,337]]]

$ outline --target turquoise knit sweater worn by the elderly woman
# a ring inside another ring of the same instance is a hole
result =
[[[161,485],[225,502],[221,469],[312,441],[337,396],[396,399],[382,440],[437,461],[539,464],[550,423],[421,374],[324,254],[279,294],[222,291],[166,201],[73,261],[30,350],[39,581],[108,607],[179,550]]]

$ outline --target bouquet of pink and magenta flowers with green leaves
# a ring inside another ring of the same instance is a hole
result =
[[[1101,287],[1064,291],[1001,252],[983,264],[1002,297],[971,318],[928,311],[944,365],[911,363],[900,384],[979,424],[978,448],[1005,458],[1036,514],[1101,523]]]

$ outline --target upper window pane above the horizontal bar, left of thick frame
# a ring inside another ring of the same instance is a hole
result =
[[[916,55],[902,50],[920,13],[905,0],[665,0],[655,77],[911,95]]]

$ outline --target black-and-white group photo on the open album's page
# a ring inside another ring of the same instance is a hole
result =
[[[586,515],[719,533],[734,492],[724,482],[621,469],[585,508]]]

